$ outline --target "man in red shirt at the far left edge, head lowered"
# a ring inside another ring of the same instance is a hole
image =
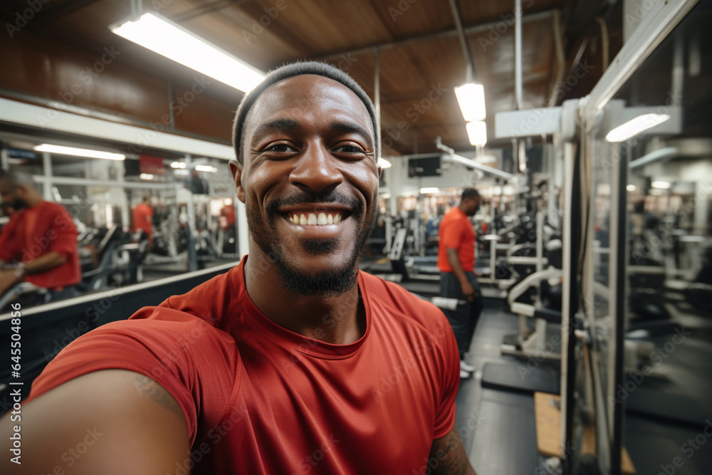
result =
[[[14,209],[0,233],[0,295],[26,281],[59,291],[81,280],[77,228],[58,203],[47,202],[32,177],[0,175],[3,205]]]

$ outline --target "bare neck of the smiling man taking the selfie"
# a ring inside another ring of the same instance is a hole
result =
[[[283,285],[274,263],[260,251],[249,254],[244,271],[252,302],[281,327],[334,345],[354,343],[365,332],[358,284],[339,296],[298,296]]]

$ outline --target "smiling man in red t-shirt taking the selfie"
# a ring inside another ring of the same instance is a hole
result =
[[[323,63],[278,68],[246,95],[230,168],[248,256],[68,345],[23,406],[19,473],[86,440],[73,474],[474,474],[449,323],[358,270],[375,124],[363,90]]]

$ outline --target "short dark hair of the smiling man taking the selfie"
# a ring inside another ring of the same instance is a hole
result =
[[[379,130],[376,123],[376,110],[373,107],[368,95],[364,92],[360,85],[347,73],[341,71],[335,66],[331,66],[327,63],[320,63],[319,61],[300,61],[298,63],[291,63],[285,66],[280,66],[274,71],[271,71],[266,78],[262,80],[259,85],[251,90],[242,99],[239,108],[237,108],[237,113],[235,115],[235,122],[232,128],[232,144],[235,148],[235,153],[237,155],[237,161],[242,163],[242,135],[244,133],[244,122],[247,117],[247,113],[250,112],[250,108],[255,103],[257,98],[264,92],[269,86],[278,83],[281,80],[293,78],[294,76],[303,74],[315,74],[324,76],[325,78],[333,79],[337,83],[345,85],[347,88],[353,91],[355,95],[361,100],[363,105],[366,106],[368,115],[371,117],[371,123],[373,125],[373,145],[375,147],[376,159],[381,155],[381,146],[379,140]]]

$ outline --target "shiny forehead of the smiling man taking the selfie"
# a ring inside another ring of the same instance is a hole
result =
[[[245,118],[246,132],[260,122],[280,115],[310,115],[334,110],[357,120],[373,132],[366,106],[342,83],[315,74],[286,78],[266,88],[255,100]]]

